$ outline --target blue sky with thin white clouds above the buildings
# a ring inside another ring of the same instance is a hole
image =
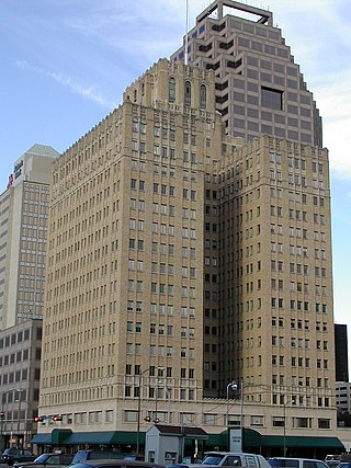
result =
[[[34,144],[63,152],[182,44],[185,0],[0,0],[0,193]],[[189,0],[189,26],[211,2]],[[329,149],[335,321],[351,350],[351,2],[244,0],[269,9],[324,121]],[[351,353],[349,354],[351,361]]]

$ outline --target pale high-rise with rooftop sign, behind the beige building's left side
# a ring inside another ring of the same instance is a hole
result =
[[[41,318],[44,304],[52,147],[34,145],[0,195],[0,329]]]

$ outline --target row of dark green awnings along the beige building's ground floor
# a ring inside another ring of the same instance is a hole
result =
[[[200,452],[228,450],[228,433],[207,433],[208,437],[199,442]],[[50,433],[38,433],[32,441],[37,452],[63,449],[76,453],[79,449],[115,450],[125,455],[139,452],[144,454],[146,434],[135,431],[97,431],[72,432],[69,429],[54,429]],[[192,457],[194,440],[184,438],[184,457]],[[197,446],[197,450],[199,450]],[[338,454],[346,448],[338,437],[321,437],[301,434],[269,435],[261,434],[252,429],[245,429],[242,433],[242,452],[261,454],[264,457],[310,457],[324,459],[328,454]]]

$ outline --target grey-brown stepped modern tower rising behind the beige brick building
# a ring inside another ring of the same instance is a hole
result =
[[[216,109],[228,135],[246,141],[272,135],[322,146],[313,94],[272,12],[216,0],[196,18],[171,59],[215,71]]]

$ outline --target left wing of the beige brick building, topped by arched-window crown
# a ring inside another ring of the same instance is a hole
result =
[[[205,174],[220,148],[213,71],[160,60],[55,162],[43,411],[120,404],[139,374],[155,404],[202,398]]]

